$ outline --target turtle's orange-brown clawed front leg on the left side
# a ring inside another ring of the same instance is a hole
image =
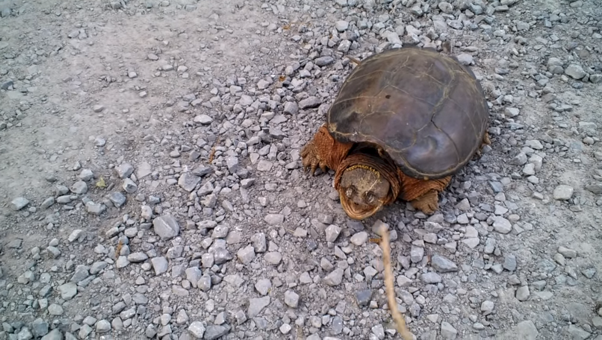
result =
[[[303,168],[311,171],[315,175],[315,169],[318,167],[326,173],[326,168],[337,170],[339,163],[347,156],[352,143],[340,143],[336,141],[326,125],[320,126],[315,132],[314,138],[301,150]]]

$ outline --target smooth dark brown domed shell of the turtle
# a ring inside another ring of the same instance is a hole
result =
[[[361,61],[327,112],[327,129],[343,143],[376,144],[408,176],[438,179],[470,161],[488,119],[468,67],[434,49],[403,47]]]

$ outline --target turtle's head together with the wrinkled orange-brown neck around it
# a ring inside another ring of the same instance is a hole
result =
[[[374,149],[356,149],[341,162],[335,189],[341,206],[354,220],[364,220],[397,199],[401,183],[397,167]]]

